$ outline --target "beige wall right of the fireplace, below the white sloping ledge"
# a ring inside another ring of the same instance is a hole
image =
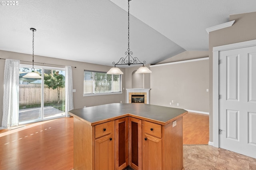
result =
[[[209,112],[209,92],[206,91],[209,88],[208,59],[150,69],[150,104]],[[170,105],[172,100],[174,103]]]

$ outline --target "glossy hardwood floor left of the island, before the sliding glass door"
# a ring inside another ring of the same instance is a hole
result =
[[[70,170],[73,118],[61,118],[0,133],[0,170]]]

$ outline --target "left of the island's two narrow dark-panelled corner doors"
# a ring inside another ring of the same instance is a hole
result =
[[[115,170],[128,166],[128,117],[115,120]]]

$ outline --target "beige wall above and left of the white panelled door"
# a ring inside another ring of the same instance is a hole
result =
[[[210,142],[213,142],[213,112],[212,112],[212,87],[213,87],[213,47],[231,43],[256,40],[256,12],[230,15],[230,21],[236,20],[233,26],[210,32],[209,34],[209,77],[210,77]]]

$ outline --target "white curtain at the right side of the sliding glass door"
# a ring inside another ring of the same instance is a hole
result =
[[[70,66],[66,66],[65,74],[65,111],[66,117],[69,117],[68,111],[74,109],[72,68]]]

